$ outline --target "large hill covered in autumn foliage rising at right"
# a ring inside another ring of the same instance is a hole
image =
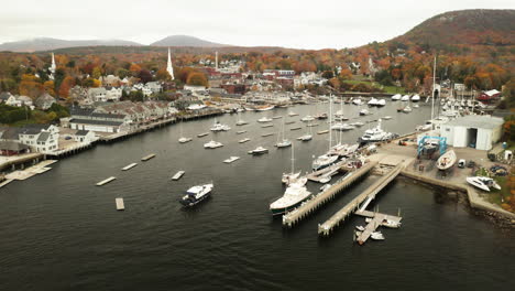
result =
[[[432,17],[392,41],[418,45],[514,45],[515,10],[460,10]]]

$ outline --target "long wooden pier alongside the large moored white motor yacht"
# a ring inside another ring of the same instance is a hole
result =
[[[311,200],[307,201],[295,211],[285,214],[283,216],[283,225],[292,227],[295,223],[308,216],[311,212],[320,207],[322,204],[332,200],[338,193],[340,193],[342,190],[354,183],[358,179],[366,174],[376,164],[377,162],[375,161],[364,164],[354,172],[351,172],[350,175],[346,176],[342,180],[339,180],[337,183],[335,183],[335,185],[332,185],[328,190],[319,193]]]

